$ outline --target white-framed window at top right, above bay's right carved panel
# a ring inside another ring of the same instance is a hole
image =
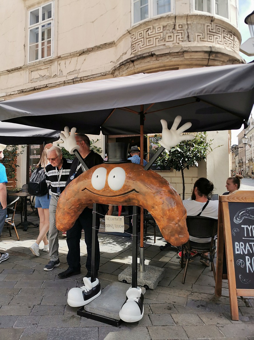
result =
[[[195,0],[195,11],[208,12],[229,18],[228,0]]]

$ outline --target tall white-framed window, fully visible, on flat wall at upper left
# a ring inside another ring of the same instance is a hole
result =
[[[52,57],[53,2],[29,11],[28,62]]]

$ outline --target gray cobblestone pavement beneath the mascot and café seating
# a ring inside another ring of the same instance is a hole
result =
[[[248,186],[251,179],[243,179]],[[253,181],[254,185],[254,181]],[[38,222],[35,215],[28,220]],[[16,225],[20,214],[16,215]],[[160,339],[249,339],[254,340],[254,297],[238,297],[239,321],[230,316],[227,281],[222,296],[214,295],[214,278],[210,268],[198,259],[190,263],[185,284],[176,251],[162,250],[165,242],[156,230],[145,235],[145,264],[163,267],[164,278],[154,290],[144,294],[144,316],[137,323],[119,327],[77,316],[77,309],[67,305],[72,287],[81,286],[86,274],[86,247],[82,234],[81,274],[59,279],[57,274],[67,268],[66,239],[59,235],[61,265],[45,272],[48,253],[32,255],[29,246],[36,240],[38,227],[18,228],[9,236],[4,228],[0,248],[9,259],[0,263],[0,339],[1,340],[160,340]],[[60,233],[61,234],[61,233]],[[98,278],[102,288],[118,281],[118,274],[132,261],[131,238],[99,234],[101,262]],[[42,243],[41,243],[42,246]],[[42,247],[41,247],[42,248]]]

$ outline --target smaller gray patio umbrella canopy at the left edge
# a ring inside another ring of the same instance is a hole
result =
[[[43,144],[59,139],[60,131],[0,122],[0,142],[6,145]]]

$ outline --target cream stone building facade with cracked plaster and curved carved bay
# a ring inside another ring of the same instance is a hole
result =
[[[244,63],[238,0],[8,0],[0,16],[0,100],[139,72]],[[186,192],[200,172],[224,190],[229,132],[210,137],[223,147],[193,169]],[[180,186],[175,175],[170,181]]]

